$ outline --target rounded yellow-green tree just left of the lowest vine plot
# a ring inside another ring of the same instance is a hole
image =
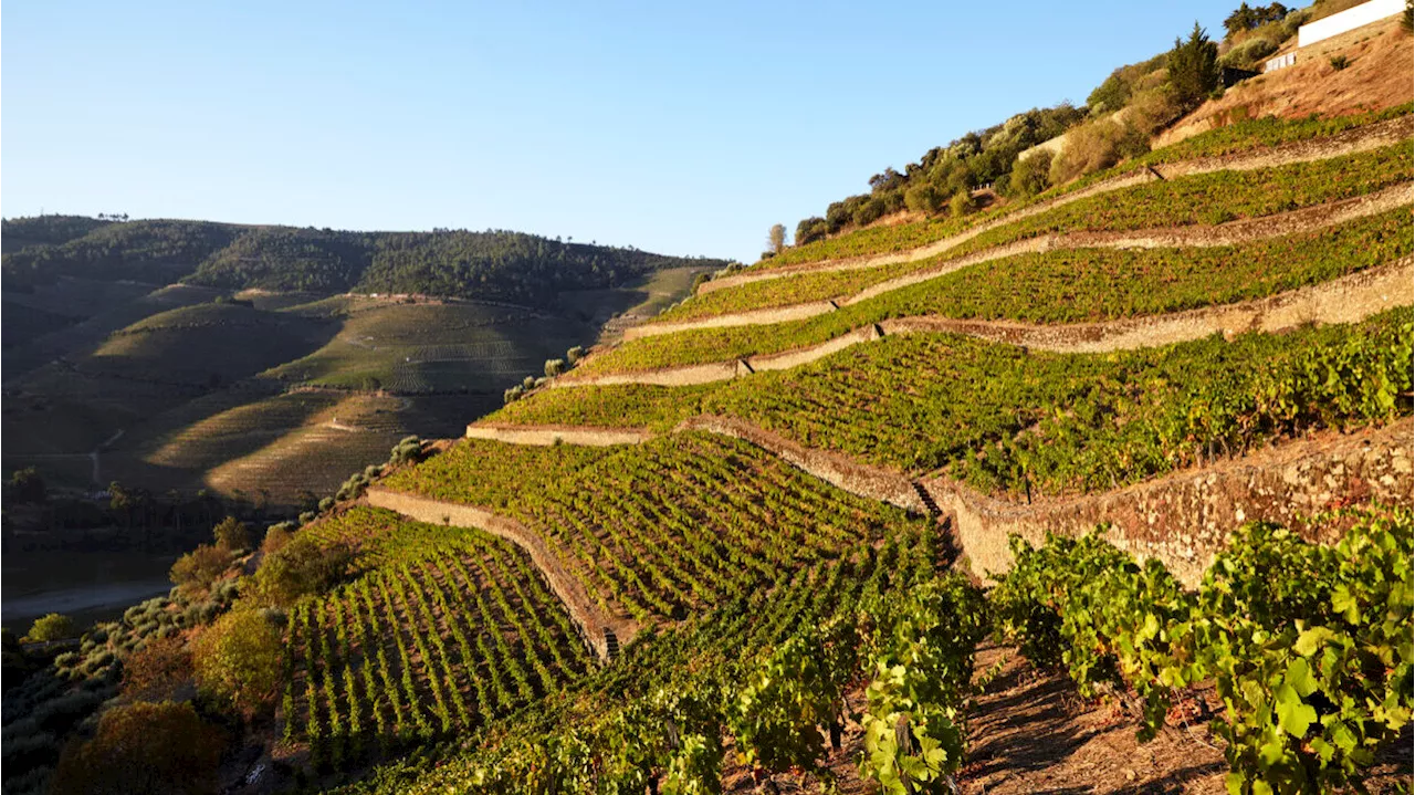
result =
[[[192,641],[201,689],[246,714],[265,712],[280,692],[280,631],[258,610],[236,610]]]

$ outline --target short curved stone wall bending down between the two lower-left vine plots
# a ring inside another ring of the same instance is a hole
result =
[[[491,511],[473,505],[443,502],[381,487],[371,487],[366,492],[366,499],[369,505],[395,511],[419,522],[474,528],[507,539],[521,547],[531,557],[531,563],[541,571],[541,576],[545,577],[546,584],[550,586],[555,596],[566,607],[570,618],[580,627],[590,651],[601,661],[610,659],[606,632],[613,632],[618,644],[623,645],[633,639],[638,631],[635,622],[600,610],[600,605],[590,598],[580,580],[565,569],[560,563],[560,556],[550,549],[545,539],[515,519],[498,516]]]

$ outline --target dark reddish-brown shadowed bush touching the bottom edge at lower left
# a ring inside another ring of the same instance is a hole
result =
[[[216,791],[225,745],[225,733],[188,703],[117,706],[103,713],[92,740],[65,748],[50,792],[205,795]]]

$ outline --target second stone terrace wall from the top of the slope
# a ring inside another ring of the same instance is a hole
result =
[[[741,325],[774,325],[807,320],[822,314],[838,311],[841,307],[853,306],[886,293],[903,290],[914,284],[931,282],[965,267],[985,265],[1000,259],[1023,255],[1041,253],[1050,250],[1071,249],[1160,249],[1160,248],[1215,248],[1232,246],[1268,240],[1303,232],[1315,232],[1330,226],[1370,218],[1382,212],[1390,212],[1401,207],[1415,204],[1415,182],[1395,185],[1367,197],[1343,199],[1333,204],[1309,207],[1269,215],[1264,218],[1249,218],[1231,221],[1217,226],[1180,226],[1166,229],[1145,229],[1136,232],[1080,232],[1071,235],[1043,235],[1013,243],[1005,243],[975,255],[951,259],[932,267],[925,267],[906,273],[903,276],[866,287],[849,297],[838,297],[831,301],[809,301],[804,304],[790,304],[768,307],[743,313],[720,314],[699,320],[681,323],[648,323],[630,328],[624,332],[625,340],[641,340],[645,337],[661,337],[681,331],[702,328],[734,328]],[[859,270],[866,266],[842,267],[842,270]],[[870,265],[869,267],[874,267]]]

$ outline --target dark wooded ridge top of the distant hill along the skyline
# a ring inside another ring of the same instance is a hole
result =
[[[61,277],[180,280],[225,290],[417,293],[548,307],[566,290],[616,289],[661,269],[726,265],[505,231],[342,232],[78,216],[6,221],[0,242],[21,246],[0,253],[0,290],[8,291]]]

